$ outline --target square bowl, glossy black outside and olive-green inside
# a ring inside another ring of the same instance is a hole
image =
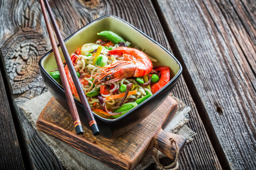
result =
[[[71,54],[85,43],[96,42],[98,39],[102,38],[98,36],[97,33],[103,30],[110,30],[119,34],[126,41],[131,42],[132,46],[136,45],[139,49],[144,50],[146,54],[157,59],[157,62],[153,62],[153,66],[168,66],[171,69],[171,72],[173,72],[173,78],[171,77],[171,80],[167,85],[152,95],[148,100],[139,104],[118,119],[105,119],[94,113],[94,117],[100,129],[100,135],[107,138],[113,138],[136,126],[165,100],[181,76],[182,67],[180,62],[163,46],[155,42],[136,27],[115,16],[98,18],[70,35],[64,40],[67,50]],[[61,50],[60,53],[64,60]],[[46,55],[40,59],[39,67],[48,90],[66,110],[69,110],[63,87],[49,75],[49,72],[52,69],[57,68],[52,50],[47,52]],[[74,100],[82,124],[89,128],[81,102],[76,99]]]

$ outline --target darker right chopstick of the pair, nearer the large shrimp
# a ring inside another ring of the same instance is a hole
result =
[[[42,0],[40,0],[42,1]],[[86,115],[86,118],[89,122],[89,126],[91,127],[91,130],[92,130],[92,133],[94,136],[97,136],[100,134],[100,131],[99,131],[99,128],[98,128],[98,125],[94,119],[94,116],[93,116],[93,113],[91,111],[91,107],[86,99],[86,96],[85,96],[85,93],[82,89],[82,85],[76,75],[76,72],[75,72],[75,69],[73,67],[73,62],[71,61],[70,57],[69,57],[69,53],[67,51],[67,48],[65,46],[65,43],[63,41],[63,38],[61,36],[61,33],[60,33],[60,30],[56,24],[56,21],[55,21],[55,17],[52,13],[52,10],[50,8],[50,5],[48,3],[48,0],[44,0],[45,2],[45,5],[46,5],[46,9],[48,11],[48,14],[49,14],[49,17],[51,19],[51,22],[52,22],[52,25],[54,27],[54,30],[55,30],[55,34],[57,36],[57,39],[60,43],[60,47],[61,47],[61,50],[63,52],[63,55],[64,55],[64,58],[66,60],[66,63],[67,63],[67,66],[68,66],[68,69],[69,69],[69,72],[71,74],[71,77],[73,79],[73,82],[74,82],[74,85],[75,85],[75,88],[76,88],[76,91],[79,95],[79,98],[80,98],[80,101],[82,103],[82,107],[83,107],[83,110],[85,112],[85,115]]]

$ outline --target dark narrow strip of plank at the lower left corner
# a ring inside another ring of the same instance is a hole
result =
[[[0,167],[2,170],[23,170],[24,164],[1,73],[2,71],[3,70],[0,69]]]

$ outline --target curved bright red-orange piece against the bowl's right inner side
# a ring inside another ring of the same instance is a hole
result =
[[[161,71],[161,77],[157,83],[151,83],[151,92],[155,94],[170,81],[170,68],[167,66],[159,66],[154,68],[155,71]]]

